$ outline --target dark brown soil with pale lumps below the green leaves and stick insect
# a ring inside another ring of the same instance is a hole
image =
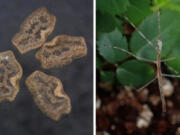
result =
[[[180,135],[180,83],[168,85],[173,91],[166,92],[167,112],[162,114],[157,82],[141,92],[97,83],[97,135]]]

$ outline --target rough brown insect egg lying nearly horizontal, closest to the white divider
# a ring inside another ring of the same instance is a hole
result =
[[[59,35],[45,43],[36,53],[41,66],[45,69],[62,67],[74,59],[87,55],[86,42],[83,37]]]

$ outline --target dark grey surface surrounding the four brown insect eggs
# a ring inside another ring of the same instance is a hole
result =
[[[85,58],[63,68],[43,70],[35,59],[36,50],[20,55],[11,39],[24,19],[45,6],[57,17],[50,41],[58,34],[83,36],[88,46]],[[20,92],[14,102],[0,104],[0,135],[92,135],[93,134],[93,1],[92,0],[1,0],[0,51],[12,50],[23,67]],[[35,105],[24,80],[34,70],[61,79],[70,96],[72,112],[58,122],[49,119]]]

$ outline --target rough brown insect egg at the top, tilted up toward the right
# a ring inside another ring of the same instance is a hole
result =
[[[54,15],[45,7],[39,8],[24,20],[12,43],[21,54],[39,48],[53,32],[55,23]]]

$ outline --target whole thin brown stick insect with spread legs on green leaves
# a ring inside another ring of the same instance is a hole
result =
[[[166,112],[166,101],[165,101],[165,97],[164,97],[164,93],[163,93],[163,89],[162,89],[163,77],[180,78],[180,75],[171,75],[171,74],[162,73],[161,63],[162,62],[167,62],[167,61],[170,61],[170,60],[174,60],[175,58],[172,57],[172,58],[168,58],[168,59],[161,59],[163,42],[162,42],[162,37],[161,37],[160,9],[158,7],[158,11],[157,11],[158,38],[156,40],[156,45],[154,45],[126,16],[124,16],[124,18],[132,27],[134,27],[134,29],[137,31],[137,33],[148,43],[148,45],[150,45],[152,48],[154,48],[156,50],[156,52],[157,52],[156,60],[153,61],[153,60],[150,60],[150,59],[146,59],[146,58],[136,56],[135,54],[133,54],[133,53],[131,53],[131,52],[129,52],[126,49],[123,49],[123,48],[113,47],[113,46],[109,46],[109,47],[114,48],[114,49],[118,49],[118,50],[120,50],[120,51],[122,51],[124,53],[127,53],[128,55],[136,58],[139,61],[155,64],[155,66],[156,66],[156,76],[151,81],[149,81],[147,84],[145,84],[144,86],[139,88],[138,90],[144,89],[149,84],[151,84],[152,82],[157,80],[158,81],[159,91],[160,91],[160,98],[161,98],[161,102],[162,102],[162,112],[165,113]]]

